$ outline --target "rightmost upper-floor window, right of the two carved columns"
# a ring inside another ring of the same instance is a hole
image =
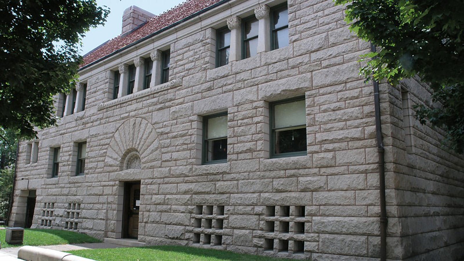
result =
[[[271,50],[289,45],[287,3],[271,8]]]

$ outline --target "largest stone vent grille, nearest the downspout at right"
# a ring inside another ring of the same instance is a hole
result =
[[[305,206],[266,206],[264,233],[264,251],[304,254],[310,252],[312,237],[307,233],[311,217],[306,215]],[[305,248],[308,245],[308,248]]]

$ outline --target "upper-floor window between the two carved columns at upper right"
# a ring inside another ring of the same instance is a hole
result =
[[[258,53],[258,26],[255,15],[242,20],[242,59]]]

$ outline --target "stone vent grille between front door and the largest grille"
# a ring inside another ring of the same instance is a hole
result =
[[[193,243],[222,246],[222,236],[227,234],[224,230],[227,220],[224,206],[195,206],[195,214],[192,215]]]

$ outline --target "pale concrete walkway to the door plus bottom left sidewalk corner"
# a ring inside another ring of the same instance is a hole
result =
[[[66,245],[52,245],[52,246],[37,246],[39,248],[53,249],[58,251],[71,251],[80,249],[95,249],[95,248],[127,248],[128,246],[121,246],[110,243],[84,243],[84,244],[66,244]],[[17,248],[1,248],[0,260],[1,261],[17,261],[18,251]]]

